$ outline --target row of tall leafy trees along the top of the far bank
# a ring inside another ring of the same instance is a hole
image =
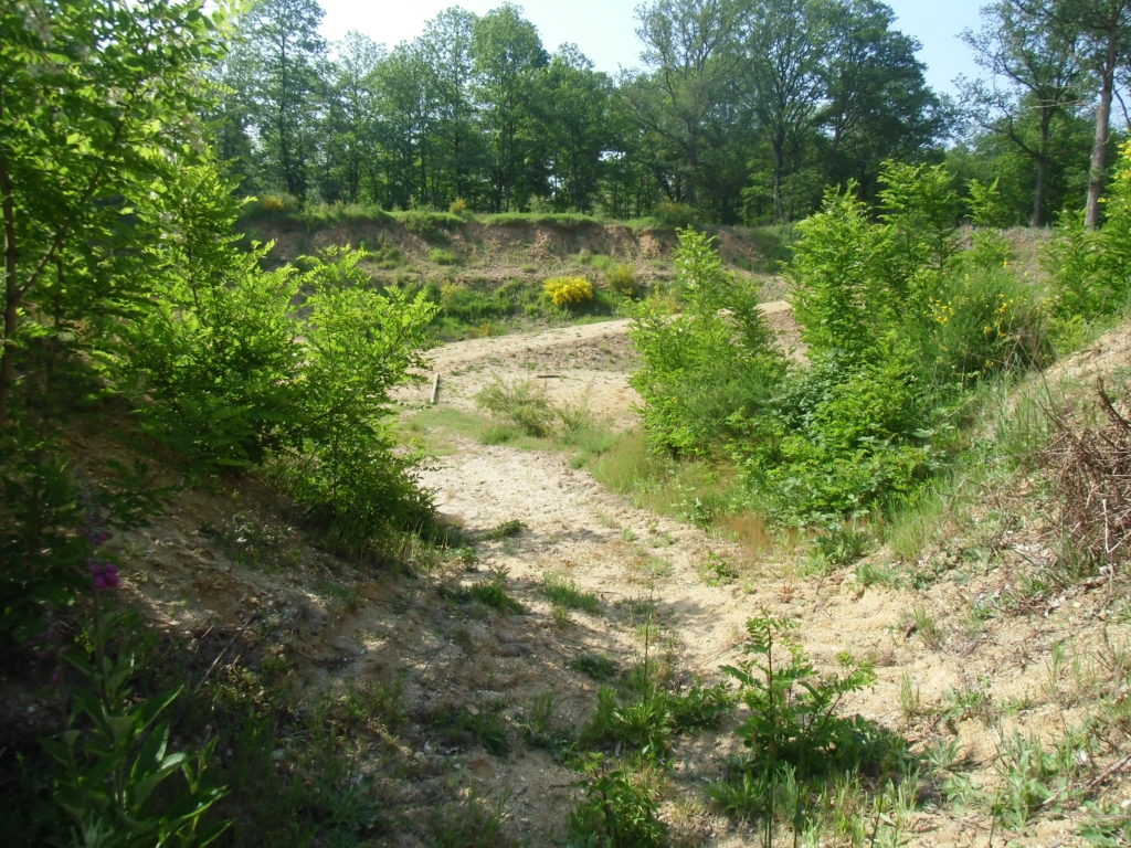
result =
[[[1125,0],[996,0],[964,37],[960,103],[879,0],[653,0],[639,69],[551,53],[518,6],[441,11],[391,49],[329,44],[317,0],[261,0],[215,69],[216,146],[244,190],[382,208],[769,223],[824,187],[877,198],[886,161],[1000,179],[1003,224],[1088,192],[1131,69]],[[956,144],[956,141],[958,144]]]

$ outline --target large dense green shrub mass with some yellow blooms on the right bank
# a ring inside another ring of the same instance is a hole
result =
[[[734,442],[756,500],[783,519],[858,516],[912,492],[950,448],[958,393],[1050,353],[1031,291],[987,267],[996,248],[979,231],[959,252],[949,175],[889,164],[882,185],[878,217],[849,188],[798,225],[792,302],[811,363]],[[992,206],[992,191],[976,200]]]

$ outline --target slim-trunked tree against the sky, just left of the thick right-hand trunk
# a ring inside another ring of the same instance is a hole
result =
[[[1047,6],[1036,0],[998,0],[982,15],[982,29],[965,32],[962,40],[992,80],[964,88],[975,119],[1033,162],[1029,225],[1041,226],[1055,165],[1054,129],[1081,99],[1079,36],[1055,26]]]

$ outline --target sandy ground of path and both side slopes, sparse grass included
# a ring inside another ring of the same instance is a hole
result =
[[[113,539],[128,563],[127,597],[187,640],[197,674],[253,681],[257,698],[285,704],[291,718],[265,742],[280,773],[318,773],[303,717],[338,728],[336,750],[351,764],[334,797],[353,786],[351,804],[381,814],[326,822],[319,839],[561,843],[587,781],[563,750],[584,735],[602,680],[646,664],[689,692],[742,658],[749,618],[774,615],[796,624],[818,668],[836,668],[846,650],[871,663],[874,684],[838,711],[905,738],[921,758],[914,777],[891,785],[889,806],[845,795],[849,806],[822,814],[824,829],[806,839],[1076,846],[1090,843],[1090,828],[1106,834],[1100,843],[1121,843],[1131,806],[1128,586],[1114,571],[1056,577],[1045,502],[1029,496],[1043,485],[1035,467],[1031,478],[953,504],[915,561],[883,550],[828,570],[788,542],[752,550],[650,513],[568,455],[446,427],[446,409],[470,413],[476,387],[501,363],[507,379],[525,372],[553,398],[588,397],[631,426],[622,330],[594,325],[434,352],[439,405],[417,432],[442,450],[421,482],[465,542],[400,551],[411,576],[320,551],[245,479],[181,492],[150,527]],[[1122,328],[1034,386],[1112,379],[1129,349],[1131,328]],[[406,396],[406,416],[420,415],[425,393]],[[120,450],[101,433],[75,447]],[[563,607],[554,586],[593,600]],[[742,749],[733,730],[743,715],[675,736],[673,769],[638,776],[659,798],[673,845],[759,839],[707,794]],[[225,814],[241,839],[267,827],[251,811]],[[782,843],[792,842],[787,830]]]

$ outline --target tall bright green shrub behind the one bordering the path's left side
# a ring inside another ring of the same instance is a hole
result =
[[[183,198],[166,209],[167,198]],[[198,468],[249,466],[294,443],[300,351],[290,268],[261,271],[266,248],[241,251],[239,207],[215,168],[184,167],[139,214],[162,223],[146,244],[147,309],[119,327],[120,384],[143,426]]]

